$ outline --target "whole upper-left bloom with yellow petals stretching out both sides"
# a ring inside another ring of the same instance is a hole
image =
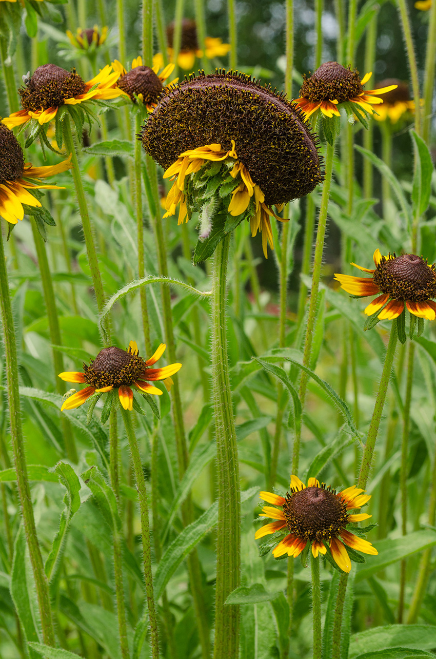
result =
[[[85,82],[76,69],[66,71],[55,64],[43,64],[18,90],[22,109],[5,117],[3,123],[13,128],[35,119],[43,125],[55,119],[61,105],[117,98],[123,94],[116,85],[119,76],[119,72],[107,65]]]

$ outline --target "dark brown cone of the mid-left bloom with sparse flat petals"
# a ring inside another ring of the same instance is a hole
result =
[[[95,389],[128,386],[138,380],[145,368],[142,357],[116,347],[103,348],[90,366],[83,365],[86,383]]]

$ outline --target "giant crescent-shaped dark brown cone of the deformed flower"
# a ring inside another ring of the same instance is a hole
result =
[[[294,103],[249,76],[217,70],[163,90],[142,128],[142,145],[164,169],[206,144],[230,150],[265,194],[265,204],[312,192],[321,182],[317,139]]]

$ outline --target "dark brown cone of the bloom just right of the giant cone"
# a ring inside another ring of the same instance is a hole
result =
[[[357,70],[351,71],[337,62],[325,62],[310,78],[304,76],[300,96],[311,103],[329,100],[344,103],[363,91]]]

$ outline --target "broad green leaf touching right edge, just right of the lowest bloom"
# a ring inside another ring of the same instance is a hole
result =
[[[371,556],[366,565],[358,565],[356,573],[356,583],[363,579],[368,579],[380,570],[385,569],[387,565],[396,563],[403,558],[412,556],[417,552],[436,544],[436,530],[425,529],[414,531],[401,538],[387,538],[386,540],[377,540],[375,548],[379,552],[378,556]],[[397,644],[402,645],[402,644]],[[436,643],[435,643],[436,647]]]

